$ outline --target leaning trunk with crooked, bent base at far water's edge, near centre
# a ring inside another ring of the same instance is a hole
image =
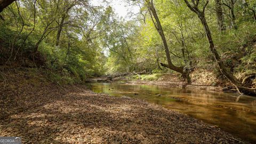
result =
[[[147,4],[148,4],[148,9],[149,9],[149,12],[150,12],[151,19],[154,23],[155,28],[158,31],[158,34],[161,36],[161,39],[162,39],[163,45],[164,45],[164,49],[165,49],[167,64],[165,64],[165,63],[160,63],[160,64],[163,67],[170,68],[171,70],[174,70],[174,71],[177,71],[178,73],[181,73],[182,77],[185,77],[187,79],[187,83],[190,84],[191,81],[190,81],[190,77],[189,77],[189,71],[184,69],[184,67],[174,66],[173,63],[172,63],[172,60],[171,60],[171,57],[170,57],[169,47],[167,45],[167,41],[166,41],[166,38],[165,38],[165,35],[164,35],[164,30],[163,30],[161,22],[158,18],[158,15],[156,13],[156,9],[154,7],[153,1],[152,0],[150,2],[147,1]],[[153,19],[153,17],[154,17],[155,20]]]

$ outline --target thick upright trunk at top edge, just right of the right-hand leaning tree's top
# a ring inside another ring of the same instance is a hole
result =
[[[217,23],[220,30],[226,30],[224,25],[224,15],[221,7],[221,0],[215,0],[215,11],[217,15]]]

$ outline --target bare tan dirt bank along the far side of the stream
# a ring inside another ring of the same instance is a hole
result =
[[[162,85],[168,87],[207,90],[221,92],[226,87],[226,81],[216,78],[212,71],[197,70],[190,74],[191,84],[187,85],[182,81],[180,74],[161,74],[157,79],[148,81],[147,79],[127,79],[126,77],[117,77],[113,81],[124,81],[127,84],[146,84],[146,85]]]

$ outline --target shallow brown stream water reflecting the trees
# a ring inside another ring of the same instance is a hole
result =
[[[256,98],[236,94],[175,89],[156,85],[91,83],[91,90],[144,99],[188,114],[256,143]]]

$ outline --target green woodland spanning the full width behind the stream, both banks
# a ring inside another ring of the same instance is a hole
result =
[[[79,81],[175,71],[188,84],[191,72],[206,69],[227,89],[255,94],[255,0],[124,2],[140,11],[118,18],[107,3],[1,1],[1,64],[44,67]]]

